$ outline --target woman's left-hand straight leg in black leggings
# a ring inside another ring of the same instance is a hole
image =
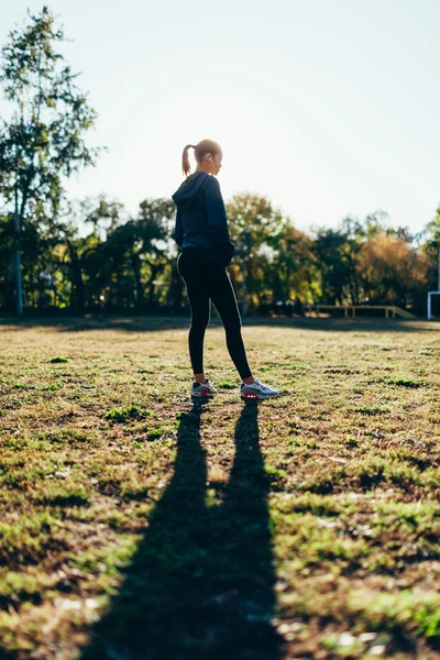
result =
[[[177,261],[177,270],[185,282],[191,310],[191,324],[188,334],[189,358],[194,377],[198,383],[205,383],[204,374],[204,340],[209,323],[210,300],[207,273],[204,271],[205,261],[183,252]]]

